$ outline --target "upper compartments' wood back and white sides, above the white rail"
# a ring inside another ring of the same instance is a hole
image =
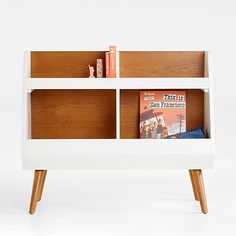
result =
[[[25,78],[86,78],[88,65],[95,67],[97,59],[105,68],[105,51],[31,51],[26,56]],[[116,64],[120,78],[211,77],[205,51],[117,51]]]

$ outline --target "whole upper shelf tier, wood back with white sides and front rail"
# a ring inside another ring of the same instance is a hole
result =
[[[210,89],[205,51],[118,51],[117,77],[88,78],[105,51],[31,51],[24,85],[33,89]],[[105,73],[104,73],[105,74]]]

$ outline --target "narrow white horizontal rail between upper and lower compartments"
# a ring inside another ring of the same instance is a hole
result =
[[[210,89],[211,78],[30,78],[33,89]]]

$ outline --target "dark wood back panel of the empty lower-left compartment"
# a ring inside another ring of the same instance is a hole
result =
[[[115,90],[34,90],[33,139],[116,138]]]

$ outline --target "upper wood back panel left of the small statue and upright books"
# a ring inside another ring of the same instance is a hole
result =
[[[105,63],[105,52],[33,51],[31,52],[31,77],[87,78],[89,77],[88,65],[92,65],[96,69],[97,59],[103,59]]]

